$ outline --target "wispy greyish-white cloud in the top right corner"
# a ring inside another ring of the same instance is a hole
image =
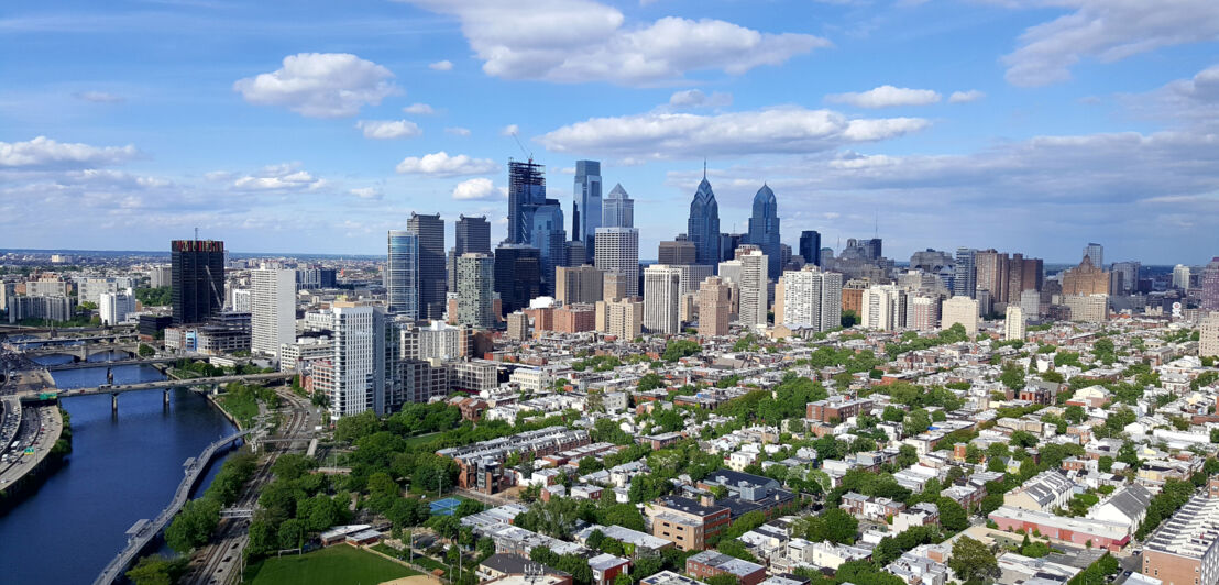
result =
[[[1000,2],[1017,7],[1074,10],[1028,28],[1019,48],[1003,57],[1007,80],[1037,87],[1070,79],[1084,58],[1108,63],[1164,46],[1213,41],[1219,37],[1214,0],[1035,0]]]

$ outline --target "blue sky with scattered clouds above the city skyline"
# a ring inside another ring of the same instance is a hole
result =
[[[528,9],[523,7],[528,5]],[[1219,254],[1213,0],[211,0],[0,11],[0,247],[379,254],[602,161],[641,257],[708,174],[784,241]]]

